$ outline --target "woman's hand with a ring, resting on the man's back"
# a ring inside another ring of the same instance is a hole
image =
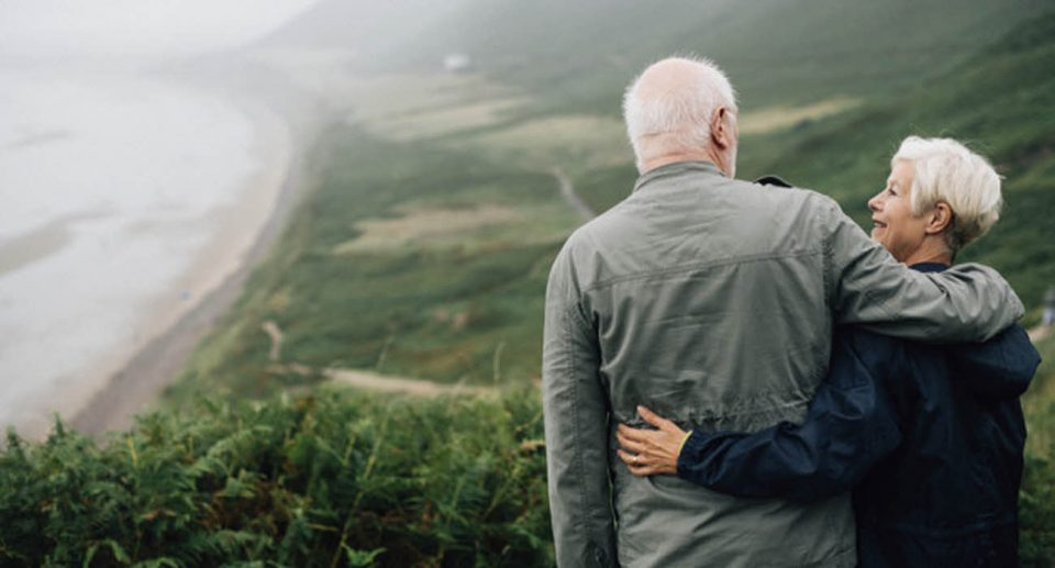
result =
[[[638,430],[620,424],[615,428],[619,458],[635,476],[677,475],[678,454],[689,433],[644,406],[637,406],[637,414],[658,430]]]

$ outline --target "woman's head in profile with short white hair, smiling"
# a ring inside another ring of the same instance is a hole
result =
[[[1000,176],[949,138],[909,136],[868,200],[871,236],[902,263],[952,261],[1000,218]]]

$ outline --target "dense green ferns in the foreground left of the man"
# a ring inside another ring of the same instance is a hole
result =
[[[322,390],[0,454],[0,566],[553,564],[535,397]]]

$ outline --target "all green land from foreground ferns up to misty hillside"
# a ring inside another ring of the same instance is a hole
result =
[[[865,31],[896,29],[908,2],[810,2],[801,13],[715,2],[729,27],[699,40],[687,2],[628,8],[586,27],[618,40],[607,49],[559,33],[596,13],[591,2],[543,2],[540,13],[564,19],[540,36],[502,24],[537,32],[537,13],[496,3],[422,36],[423,53],[463,34],[493,55],[470,73],[403,54],[404,67],[345,77],[352,111],[315,142],[310,192],[163,410],[102,448],[62,427],[41,445],[9,441],[0,487],[23,489],[0,490],[0,519],[20,520],[0,531],[0,560],[551,564],[543,294],[589,213],[563,190],[592,213],[628,194],[636,171],[619,93],[670,46],[714,55],[742,89],[740,177],[780,175],[859,222],[904,136],[952,136],[989,156],[1006,209],[957,260],[1000,269],[1035,325],[1055,285],[1055,15],[1031,2],[1013,14],[1001,2],[951,14],[912,3],[906,25],[929,33],[902,45]],[[648,18],[669,34],[617,33]],[[806,29],[819,30],[812,41],[780,48]],[[771,41],[748,47],[746,30]],[[1055,557],[1055,334],[1037,348],[1045,363],[1023,398],[1023,566]],[[448,394],[379,396],[333,379],[356,372]]]

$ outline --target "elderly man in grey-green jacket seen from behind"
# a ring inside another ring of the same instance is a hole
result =
[[[985,267],[909,270],[819,193],[733,179],[733,89],[708,62],[651,66],[624,114],[642,175],[568,238],[546,291],[558,563],[852,566],[846,494],[745,500],[635,477],[618,461],[615,425],[642,425],[638,404],[686,431],[799,420],[824,376],[833,322],[980,341],[1018,320],[1021,302]]]

